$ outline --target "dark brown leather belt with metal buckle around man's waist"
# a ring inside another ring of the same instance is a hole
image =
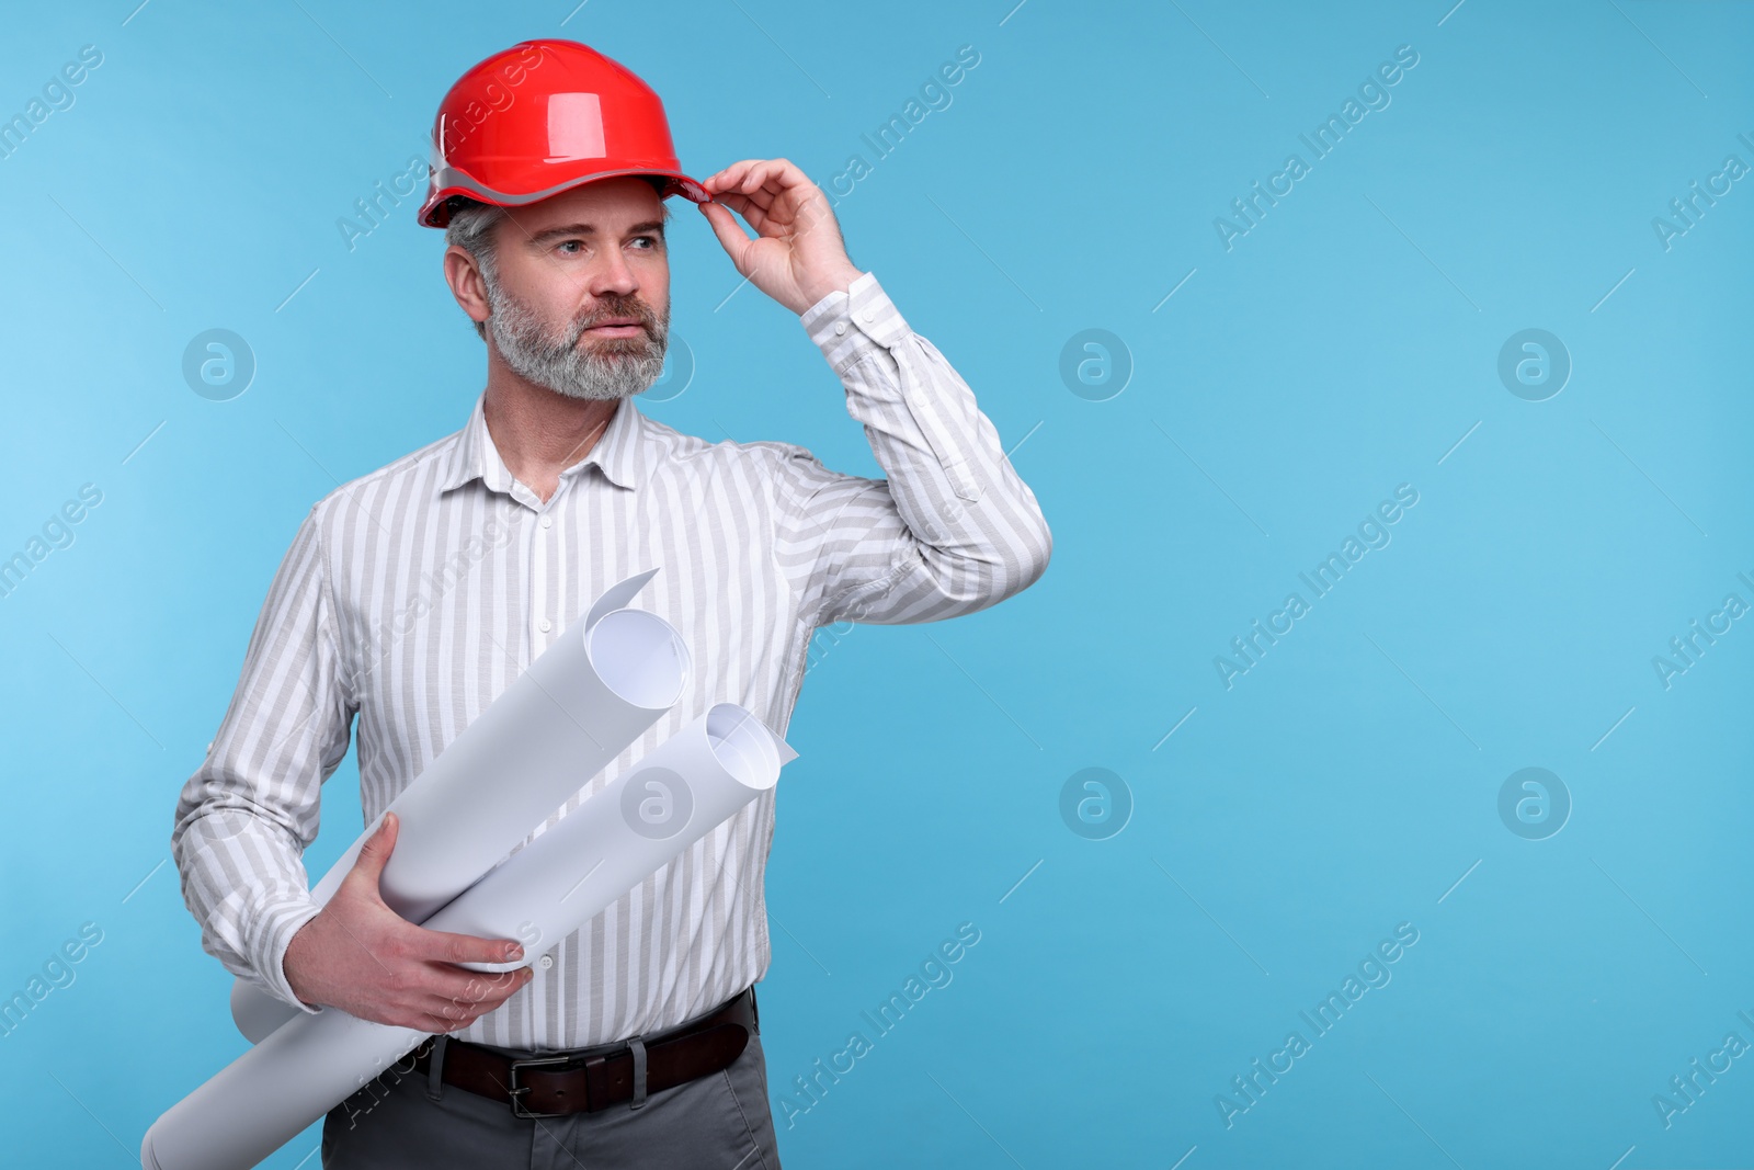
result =
[[[693,1023],[644,1040],[645,1093],[686,1084],[730,1068],[751,1035],[759,1035],[756,989]],[[414,1052],[414,1068],[431,1070],[433,1037]],[[440,1081],[507,1102],[519,1117],[558,1117],[596,1112],[635,1096],[631,1045],[575,1049],[531,1059],[512,1059],[467,1040],[447,1038]]]

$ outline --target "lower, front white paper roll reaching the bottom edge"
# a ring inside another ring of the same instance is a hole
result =
[[[796,753],[717,703],[514,853],[426,926],[553,949],[609,903],[774,788]],[[528,960],[526,960],[528,961]],[[496,965],[521,967],[523,963]],[[167,1110],[144,1170],[247,1170],[353,1096],[428,1033],[335,1007],[300,1014]]]

